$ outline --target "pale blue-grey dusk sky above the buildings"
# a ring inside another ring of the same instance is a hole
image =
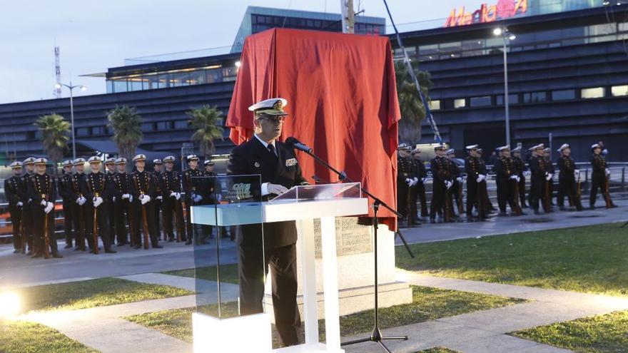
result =
[[[383,1],[354,1],[356,11],[360,6],[390,25]],[[442,26],[452,8],[472,11],[484,2],[497,1],[388,1],[400,31],[417,21],[442,20],[434,21]],[[63,83],[88,86],[77,96],[105,93],[104,78],[79,75],[123,66],[125,58],[231,46],[247,6],[340,13],[340,0],[11,1],[0,22],[0,103],[54,98],[55,45]]]

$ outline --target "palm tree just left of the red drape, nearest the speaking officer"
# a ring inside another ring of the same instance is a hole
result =
[[[217,138],[224,139],[221,112],[215,107],[205,105],[194,108],[186,114],[190,117],[188,122],[194,130],[192,140],[198,142],[201,155],[207,158],[214,153],[213,141]]]

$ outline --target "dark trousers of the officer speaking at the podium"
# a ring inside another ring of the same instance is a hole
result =
[[[296,245],[283,247],[243,246],[239,248],[240,314],[263,312],[264,275],[273,277],[275,326],[284,346],[299,343],[301,319],[297,307]]]

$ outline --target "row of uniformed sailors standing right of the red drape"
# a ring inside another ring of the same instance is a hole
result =
[[[487,191],[487,166],[482,159],[482,149],[479,145],[468,145],[465,158],[465,173],[467,186],[467,200],[463,204],[463,178],[460,167],[455,163],[456,151],[447,149],[445,145],[434,148],[435,158],[430,160],[432,174],[432,199],[430,210],[427,210],[425,182],[427,169],[420,159],[421,150],[412,149],[410,145],[401,143],[397,147],[397,209],[408,227],[419,225],[419,218],[427,218],[436,222],[437,217],[442,222],[455,222],[466,216],[466,220],[482,221],[490,218],[497,209],[492,205]],[[592,150],[591,190],[589,208],[594,209],[598,190],[602,193],[606,208],[617,207],[609,194],[610,171],[602,153],[603,145],[596,143]],[[532,208],[535,214],[540,209],[545,213],[552,212],[554,190],[554,165],[550,159],[550,148],[542,143],[528,150],[528,163],[522,158],[521,148],[510,149],[509,145],[496,149],[493,172],[497,185],[497,208],[499,215],[525,215],[523,208]],[[564,199],[575,210],[583,210],[581,202],[580,183],[584,175],[571,156],[568,144],[557,150],[559,159],[557,166],[558,193],[556,203],[559,210],[565,208]],[[526,178],[530,179],[530,190],[526,197]],[[420,216],[417,210],[420,203]]]

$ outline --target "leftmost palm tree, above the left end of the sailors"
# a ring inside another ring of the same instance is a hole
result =
[[[41,131],[41,144],[56,167],[56,163],[64,158],[68,148],[70,123],[63,116],[52,113],[40,116],[33,125]],[[54,173],[57,173],[57,168],[54,168]]]

